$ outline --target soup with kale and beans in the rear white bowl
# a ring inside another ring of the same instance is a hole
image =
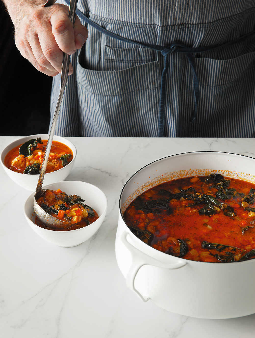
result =
[[[39,174],[47,142],[38,137],[13,148],[5,156],[4,165],[19,173]],[[53,141],[46,173],[61,169],[72,160],[72,150],[63,143]]]

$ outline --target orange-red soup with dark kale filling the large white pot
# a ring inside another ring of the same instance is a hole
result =
[[[166,254],[201,262],[255,258],[255,185],[220,174],[172,180],[124,212],[130,230]]]

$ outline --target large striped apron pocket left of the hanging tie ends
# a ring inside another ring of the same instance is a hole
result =
[[[119,71],[96,71],[77,63],[84,136],[157,137],[160,98],[158,61]]]

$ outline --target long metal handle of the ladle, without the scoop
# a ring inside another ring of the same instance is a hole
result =
[[[76,13],[77,1],[78,0],[70,0],[69,10],[68,10],[68,17],[73,24],[75,22],[75,13]],[[47,1],[44,4],[44,7],[48,7],[52,4],[53,4],[53,1]],[[48,160],[49,160],[49,155],[50,155],[51,146],[52,146],[52,140],[53,140],[53,136],[54,136],[54,133],[55,133],[58,115],[59,115],[59,110],[60,110],[60,106],[61,106],[61,102],[62,102],[62,99],[63,99],[64,90],[65,90],[65,86],[66,86],[66,82],[67,82],[67,78],[68,78],[69,63],[70,63],[70,55],[64,53],[63,62],[62,62],[62,69],[61,69],[60,93],[59,93],[59,97],[58,97],[56,111],[55,111],[53,121],[52,121],[52,125],[51,125],[50,135],[49,135],[47,146],[46,146],[46,149],[45,149],[44,160],[42,161],[42,165],[41,165],[39,179],[38,179],[38,183],[37,183],[37,187],[36,187],[36,191],[35,191],[35,197],[41,191],[41,186],[42,186],[42,183],[44,182],[44,175],[45,175],[46,167],[47,167]]]

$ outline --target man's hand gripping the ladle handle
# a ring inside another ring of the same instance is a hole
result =
[[[21,55],[40,72],[55,76],[61,72],[63,52],[74,54],[88,37],[88,30],[76,16],[68,18],[68,6],[43,7],[33,0],[4,0],[15,27],[15,43]],[[37,0],[36,0],[37,1]],[[17,7],[13,8],[16,3]],[[10,8],[11,7],[11,8]],[[69,75],[73,67],[69,67]]]

